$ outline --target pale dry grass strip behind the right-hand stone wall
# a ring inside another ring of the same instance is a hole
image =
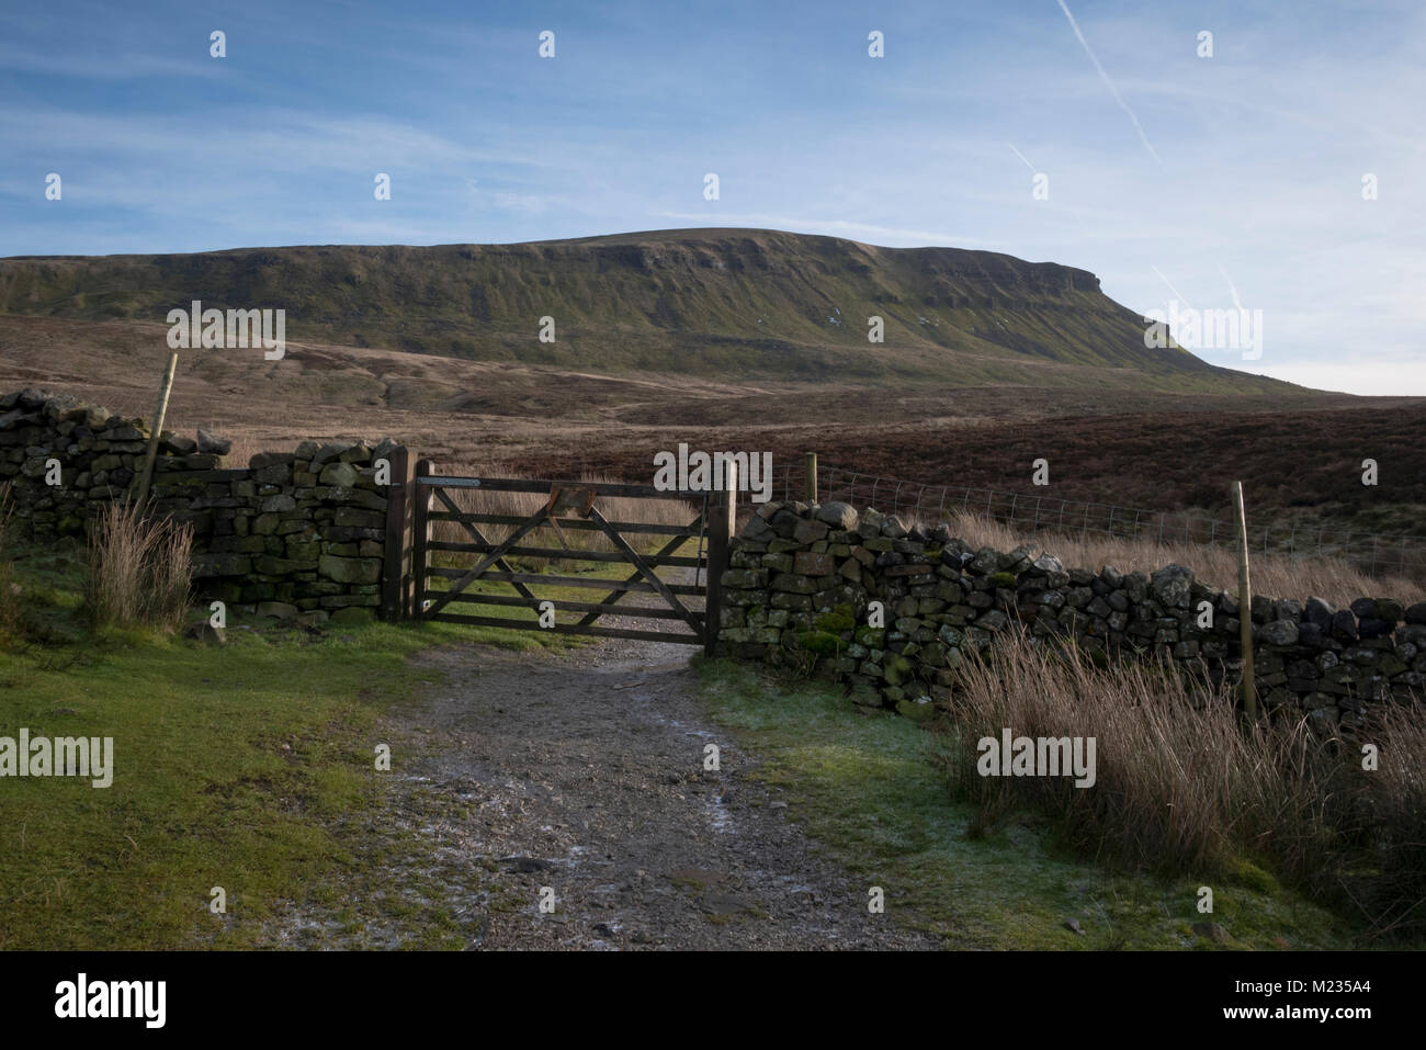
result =
[[[1044,532],[1028,536],[1002,522],[961,514],[953,515],[947,525],[953,536],[977,548],[1012,551],[1021,544],[1034,542],[1060,558],[1067,568],[1092,571],[1112,565],[1119,572],[1154,572],[1178,564],[1192,569],[1209,586],[1238,592],[1238,556],[1228,548]],[[1253,593],[1272,598],[1316,596],[1338,608],[1346,608],[1358,598],[1390,596],[1405,603],[1426,601],[1426,586],[1420,582],[1399,576],[1369,576],[1338,558],[1252,555],[1251,569]]]

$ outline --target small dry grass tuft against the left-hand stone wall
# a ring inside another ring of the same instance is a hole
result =
[[[86,608],[96,628],[177,631],[188,608],[193,529],[113,502],[94,519]]]

